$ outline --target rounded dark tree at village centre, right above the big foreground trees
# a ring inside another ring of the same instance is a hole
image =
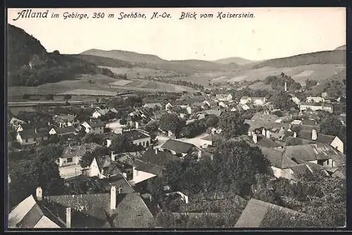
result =
[[[249,127],[239,112],[223,113],[218,126],[222,129],[221,134],[227,139],[246,133]]]

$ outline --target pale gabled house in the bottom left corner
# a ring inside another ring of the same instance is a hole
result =
[[[42,191],[42,188],[37,188]],[[58,229],[65,223],[28,196],[8,213],[8,228],[11,229]]]

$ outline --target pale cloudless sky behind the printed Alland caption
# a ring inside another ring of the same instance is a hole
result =
[[[32,8],[49,10],[48,18],[18,18],[23,10],[8,9],[8,23],[36,37],[48,52],[61,54],[120,49],[168,60],[262,60],[346,44],[345,8]],[[170,18],[151,19],[155,11]],[[196,19],[180,20],[182,11],[196,12]],[[87,13],[89,18],[64,19],[65,12]],[[104,18],[93,18],[94,12],[104,13]],[[146,18],[119,19],[121,12],[144,13]],[[218,12],[254,17],[219,19]],[[51,13],[59,18],[51,18]],[[108,18],[111,13],[114,18]],[[200,18],[201,13],[213,13],[213,18]]]

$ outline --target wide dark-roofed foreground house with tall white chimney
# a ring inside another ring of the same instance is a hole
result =
[[[109,193],[50,195],[42,198],[68,228],[146,228],[153,215],[139,193],[111,186]]]

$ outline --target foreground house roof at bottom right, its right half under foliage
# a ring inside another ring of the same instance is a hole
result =
[[[234,227],[315,227],[314,219],[306,214],[251,198]]]

